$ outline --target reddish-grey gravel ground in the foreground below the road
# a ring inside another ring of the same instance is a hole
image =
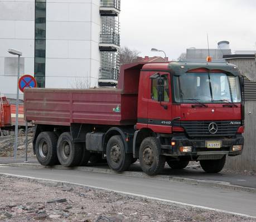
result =
[[[0,221],[256,221],[54,182],[0,177]]]

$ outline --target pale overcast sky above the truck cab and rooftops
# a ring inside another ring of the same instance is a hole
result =
[[[186,48],[256,50],[256,0],[121,0],[121,47],[177,59]]]

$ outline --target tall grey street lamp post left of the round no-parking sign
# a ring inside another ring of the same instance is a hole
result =
[[[14,50],[11,48],[8,52],[12,55],[18,56],[18,76],[17,76],[17,99],[16,99],[16,122],[15,122],[15,149],[13,152],[13,156],[16,159],[17,157],[17,146],[18,146],[18,103],[19,103],[19,88],[18,88],[18,80],[20,79],[20,57],[22,56],[22,52],[18,50]]]

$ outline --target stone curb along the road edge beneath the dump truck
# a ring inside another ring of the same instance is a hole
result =
[[[29,163],[16,163],[16,164],[0,164],[0,166],[12,166],[12,167],[24,167],[28,169],[57,169],[57,170],[79,170],[85,172],[99,172],[103,174],[115,174],[115,175],[122,175],[122,176],[132,176],[138,178],[145,178],[151,180],[163,180],[163,181],[170,181],[170,182],[182,182],[189,185],[200,185],[200,186],[207,186],[207,187],[214,187],[214,188],[221,188],[221,189],[229,189],[234,191],[244,191],[249,193],[256,193],[255,188],[248,188],[246,186],[238,186],[232,185],[229,182],[224,181],[213,181],[213,180],[197,180],[197,179],[190,179],[185,177],[177,177],[177,176],[168,176],[168,175],[156,175],[156,176],[148,176],[143,172],[134,172],[134,171],[124,171],[124,172],[115,172],[110,169],[103,169],[97,167],[90,167],[90,166],[76,166],[76,167],[65,167],[61,165],[56,166],[42,166],[40,164],[29,164]]]

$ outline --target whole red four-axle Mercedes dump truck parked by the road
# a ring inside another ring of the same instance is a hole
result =
[[[115,171],[139,159],[148,175],[167,161],[206,172],[240,155],[243,80],[226,62],[132,63],[117,88],[25,90],[25,118],[35,121],[33,149],[42,165],[86,165],[100,154]]]

